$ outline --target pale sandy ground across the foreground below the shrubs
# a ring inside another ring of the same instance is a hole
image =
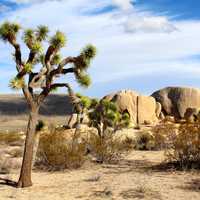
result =
[[[199,200],[200,172],[152,168],[163,159],[163,152],[133,151],[116,165],[88,162],[73,171],[34,171],[31,188],[0,181],[0,200]],[[17,173],[0,177],[15,181]]]

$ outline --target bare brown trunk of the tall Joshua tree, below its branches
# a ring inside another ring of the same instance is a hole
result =
[[[20,172],[19,181],[17,187],[29,187],[32,186],[31,171],[32,171],[32,159],[33,159],[33,147],[35,139],[35,129],[38,120],[39,106],[32,106],[29,115],[29,122],[26,133],[26,141],[24,148],[23,162]]]

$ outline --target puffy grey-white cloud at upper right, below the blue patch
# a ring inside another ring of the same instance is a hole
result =
[[[132,17],[125,23],[125,30],[129,33],[171,33],[177,28],[166,17]]]

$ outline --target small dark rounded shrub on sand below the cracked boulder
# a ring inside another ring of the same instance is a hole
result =
[[[136,150],[153,150],[155,149],[154,137],[149,131],[141,131],[135,140]]]

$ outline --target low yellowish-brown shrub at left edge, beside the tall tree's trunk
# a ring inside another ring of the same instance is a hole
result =
[[[15,143],[21,143],[22,137],[19,133],[0,133],[0,143],[12,145]]]

